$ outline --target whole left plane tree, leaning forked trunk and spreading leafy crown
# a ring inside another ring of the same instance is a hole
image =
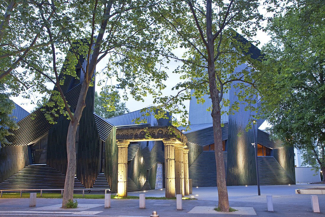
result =
[[[16,17],[17,20],[13,22],[14,24],[6,22],[7,29],[21,26],[23,30],[27,31],[28,29],[24,28],[24,23],[34,22],[37,28],[27,32],[35,41],[41,40],[42,44],[45,43],[43,41],[46,41],[50,47],[34,49],[33,53],[27,52],[31,50],[28,47],[23,51],[25,55],[20,55],[15,46],[13,49],[8,45],[10,58],[13,61],[10,66],[2,65],[3,73],[0,79],[5,80],[8,86],[10,80],[18,80],[16,81],[17,85],[13,87],[18,92],[29,89],[31,92],[38,91],[50,96],[50,100],[43,105],[44,109],[49,108],[53,115],[63,114],[70,119],[67,135],[68,168],[62,200],[62,207],[65,208],[68,201],[73,200],[76,170],[75,134],[85,108],[88,88],[93,85],[95,67],[98,62],[105,56],[109,56],[106,68],[109,73],[119,73],[120,67],[123,66],[128,69],[129,75],[141,70],[141,73],[146,75],[146,80],[161,84],[152,76],[152,73],[158,71],[155,62],[159,59],[159,56],[152,55],[152,52],[156,50],[153,41],[156,40],[158,29],[149,16],[149,9],[155,2],[150,0],[141,2],[132,0],[60,2],[52,0],[51,2],[33,1],[27,3],[30,8],[28,12],[34,19],[21,13]],[[9,8],[7,11],[9,11],[9,13],[6,12],[7,14],[11,14],[12,9]],[[6,21],[6,18],[4,20]],[[24,36],[19,35],[18,32],[16,37],[20,36],[24,40]],[[80,40],[80,38],[85,39]],[[58,52],[64,55],[57,55]],[[16,60],[14,60],[15,55],[17,56]],[[64,56],[66,61],[63,59]],[[82,67],[80,62],[82,58],[85,59],[85,67]],[[61,85],[64,83],[65,75],[79,79],[76,75],[76,65],[81,66],[83,80],[81,80],[77,106],[72,112]],[[15,70],[15,75],[10,73],[18,66],[23,68],[24,72]],[[61,75],[59,75],[60,68]],[[31,77],[26,78],[25,74]],[[17,79],[18,77],[21,79]],[[161,76],[162,79],[164,77]],[[55,86],[53,91],[47,88],[46,82],[48,81]],[[142,86],[145,85],[150,86],[146,83]],[[46,117],[51,123],[55,123],[51,115]]]

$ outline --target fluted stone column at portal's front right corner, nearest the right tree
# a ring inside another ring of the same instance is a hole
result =
[[[175,142],[176,139],[163,139],[165,146],[165,196],[175,197]]]

